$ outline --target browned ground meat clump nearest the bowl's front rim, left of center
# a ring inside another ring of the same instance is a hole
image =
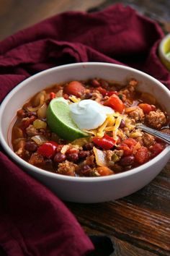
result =
[[[64,161],[63,163],[58,164],[57,174],[63,174],[68,176],[75,176],[75,169],[77,165],[75,163]]]

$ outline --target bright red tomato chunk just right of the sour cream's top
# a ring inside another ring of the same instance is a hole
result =
[[[122,103],[122,101],[120,100],[120,98],[115,94],[110,96],[107,99],[107,101],[104,101],[104,106],[109,106],[109,107],[113,108],[115,111],[118,111],[120,113],[122,113],[122,111],[125,108],[125,106]]]

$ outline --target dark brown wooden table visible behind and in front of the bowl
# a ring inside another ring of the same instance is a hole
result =
[[[0,0],[0,38],[58,12],[68,9],[85,11],[91,7],[94,11],[117,1],[102,2]],[[157,20],[166,32],[170,32],[169,0],[122,2]],[[96,8],[98,4],[101,5]],[[24,12],[26,8],[27,12]],[[114,202],[66,205],[86,234],[106,235],[112,239],[115,249],[112,256],[170,255],[170,161],[153,182],[133,195]],[[0,250],[0,255],[5,253]]]

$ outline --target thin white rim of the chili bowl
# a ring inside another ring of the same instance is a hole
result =
[[[86,68],[88,66],[105,66],[105,67],[116,67],[120,69],[126,69],[131,72],[135,72],[137,74],[143,75],[143,77],[148,78],[149,80],[153,80],[159,87],[161,87],[162,90],[165,91],[165,93],[168,93],[170,95],[170,91],[168,88],[166,88],[165,85],[163,85],[161,82],[156,80],[156,78],[151,77],[151,75],[146,74],[138,69],[133,69],[132,67],[123,66],[120,64],[112,64],[112,63],[105,63],[105,62],[79,62],[79,63],[73,63],[73,64],[65,64],[58,67],[53,67],[50,69],[45,69],[41,72],[38,72],[37,74],[32,75],[31,77],[28,77],[24,81],[20,82],[17,86],[15,86],[4,98],[4,100],[1,102],[0,106],[0,130],[1,130],[1,121],[2,121],[2,115],[4,112],[4,108],[6,107],[6,103],[8,103],[9,99],[14,95],[14,93],[17,92],[17,90],[23,88],[25,85],[27,85],[27,82],[31,82],[37,77],[40,77],[42,75],[45,75],[49,72],[55,71],[55,69],[65,69],[65,68],[71,68],[71,67],[80,67],[80,68]],[[50,86],[50,85],[49,85]],[[147,163],[143,163],[143,165],[138,166],[136,168],[133,168],[129,171],[122,172],[120,174],[115,175],[109,175],[109,176],[100,176],[100,177],[79,177],[79,176],[66,176],[63,174],[55,174],[50,171],[45,171],[41,168],[38,168],[36,166],[32,166],[30,163],[27,163],[27,161],[24,161],[22,158],[19,158],[18,155],[14,153],[12,148],[8,145],[6,140],[4,139],[4,136],[0,136],[0,143],[2,147],[4,148],[5,152],[11,157],[14,162],[18,163],[19,166],[26,169],[29,169],[30,171],[33,171],[37,174],[40,174],[41,176],[49,176],[51,178],[60,179],[63,181],[73,181],[73,182],[106,182],[106,181],[112,181],[115,179],[121,179],[128,176],[132,176],[133,174],[138,174],[140,171],[143,171],[146,168],[151,167],[154,163],[161,161],[161,158],[163,158],[164,155],[168,154],[170,152],[170,145],[168,145],[160,154],[158,154],[155,158],[151,159]],[[24,170],[23,170],[24,171]]]

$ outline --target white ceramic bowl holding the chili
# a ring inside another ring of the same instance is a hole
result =
[[[125,197],[141,189],[164,168],[170,156],[170,146],[148,163],[121,174],[102,177],[71,177],[42,171],[19,158],[8,145],[8,129],[17,109],[38,91],[56,82],[102,77],[106,80],[125,80],[134,77],[143,92],[153,94],[169,113],[170,92],[158,80],[136,69],[116,64],[78,63],[48,69],[24,80],[6,96],[1,104],[1,145],[6,153],[28,174],[49,187],[62,200],[71,202],[104,202]],[[170,113],[169,113],[170,114]]]

